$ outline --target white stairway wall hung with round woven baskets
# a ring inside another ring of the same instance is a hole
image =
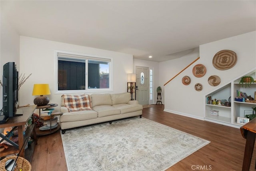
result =
[[[220,50],[232,50],[236,52],[238,60],[233,68],[229,70],[217,70],[214,68],[212,58]],[[185,59],[183,58],[183,60]],[[170,65],[166,66],[166,62],[162,62],[159,66],[159,72],[173,72],[174,70],[172,70],[172,68],[176,68],[176,66],[179,66],[181,63],[182,61],[172,60],[169,62]],[[188,62],[186,62],[186,64],[187,63]],[[192,68],[196,64],[203,64],[207,69],[206,75],[202,78],[196,78],[192,74]],[[200,46],[200,59],[164,87],[164,110],[203,119],[204,95],[254,67],[256,67],[256,31],[203,44]],[[177,73],[178,72],[175,71],[174,74]],[[208,84],[208,78],[212,75],[220,77],[220,85],[213,87]],[[189,85],[182,84],[181,79],[183,76],[190,77],[191,83]],[[203,85],[202,91],[196,91],[194,89],[196,83]],[[228,98],[229,97],[226,97],[226,99]]]

